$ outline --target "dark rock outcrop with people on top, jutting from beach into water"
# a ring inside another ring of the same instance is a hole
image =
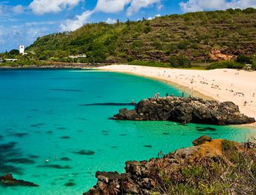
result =
[[[118,120],[169,120],[174,122],[194,122],[213,125],[241,125],[255,122],[240,113],[233,102],[203,100],[195,97],[162,97],[144,99],[135,110],[119,110],[113,119]]]

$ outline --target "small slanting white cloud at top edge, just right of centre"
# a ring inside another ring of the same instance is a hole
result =
[[[127,16],[132,16],[143,7],[149,7],[152,4],[160,4],[160,0],[133,0],[127,9]]]

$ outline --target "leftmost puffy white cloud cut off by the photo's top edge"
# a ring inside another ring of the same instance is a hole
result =
[[[37,15],[59,13],[66,8],[72,8],[81,0],[33,0],[29,7]]]

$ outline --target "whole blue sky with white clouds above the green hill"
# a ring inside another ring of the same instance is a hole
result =
[[[0,0],[0,52],[86,23],[255,7],[256,0]]]

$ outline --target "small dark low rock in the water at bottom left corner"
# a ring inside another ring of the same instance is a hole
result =
[[[12,174],[6,174],[4,176],[0,176],[0,184],[4,186],[27,186],[27,187],[39,187],[32,182],[26,182],[22,179],[14,179]]]

